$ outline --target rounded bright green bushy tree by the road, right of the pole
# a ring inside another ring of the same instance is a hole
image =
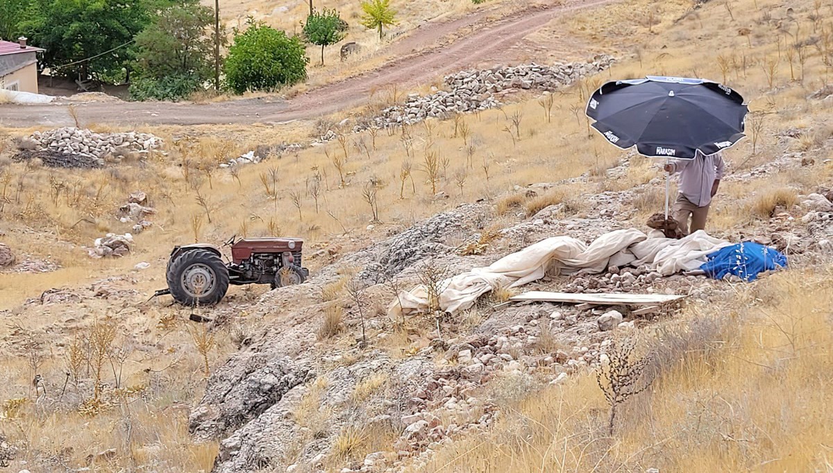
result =
[[[307,62],[300,38],[250,22],[245,32],[235,30],[224,68],[228,87],[242,93],[300,82],[307,78]]]

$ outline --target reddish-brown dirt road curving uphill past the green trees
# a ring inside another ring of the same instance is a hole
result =
[[[317,87],[289,100],[257,97],[217,103],[170,102],[87,102],[79,104],[82,122],[121,125],[202,123],[288,122],[320,117],[367,102],[373,90],[397,84],[399,90],[431,82],[442,74],[460,70],[477,62],[500,58],[523,37],[546,25],[554,17],[582,8],[597,7],[615,0],[566,0],[561,5],[527,9],[495,22],[484,13],[475,13],[451,22],[430,24],[382,51],[398,57],[370,72]],[[465,32],[456,42],[436,46],[441,37]],[[426,47],[421,52],[415,49]],[[67,126],[72,118],[65,106],[2,105],[0,123],[7,127],[35,125]]]

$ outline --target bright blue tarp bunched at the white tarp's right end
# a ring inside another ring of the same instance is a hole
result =
[[[786,267],[786,256],[768,246],[752,241],[726,246],[708,256],[700,266],[706,275],[715,279],[731,274],[744,281],[755,281],[761,272]]]

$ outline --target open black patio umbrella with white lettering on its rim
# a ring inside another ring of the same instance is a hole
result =
[[[694,159],[746,135],[743,97],[716,82],[655,77],[607,82],[587,102],[593,127],[617,147],[646,157]],[[668,180],[666,177],[666,217]]]

